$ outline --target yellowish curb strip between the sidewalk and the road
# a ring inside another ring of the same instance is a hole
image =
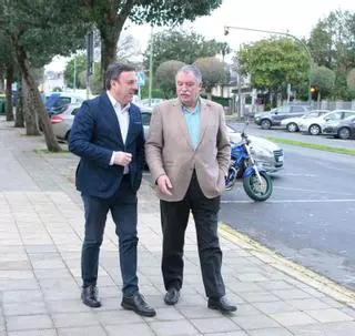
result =
[[[260,243],[251,240],[248,236],[231,228],[225,223],[220,222],[219,231],[221,236],[246,250],[250,254],[257,257],[265,264],[312,286],[313,288],[331,296],[332,298],[342,302],[352,308],[355,308],[355,292],[345,288],[320,275],[310,268],[306,268],[293,261],[276,254],[272,250],[261,245]]]

